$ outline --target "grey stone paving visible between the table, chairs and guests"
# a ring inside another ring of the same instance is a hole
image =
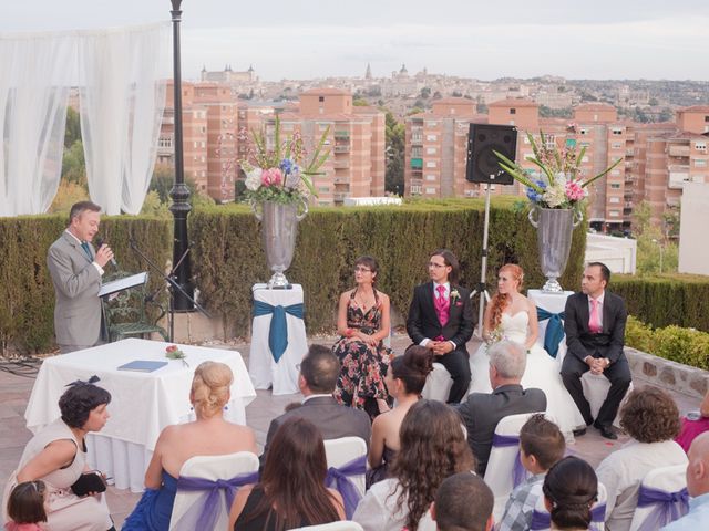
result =
[[[310,339],[311,342],[327,345],[331,345],[335,340],[332,336]],[[405,334],[393,334],[391,345],[395,352],[403,352],[409,344],[410,340]],[[224,345],[209,342],[209,344],[205,346],[237,350],[242,353],[244,362],[248,365],[247,353],[249,345],[247,343]],[[479,341],[473,339],[469,343],[467,348],[470,352],[475,352],[477,346]],[[3,367],[7,366],[6,362],[0,362],[0,365]],[[647,383],[640,376],[641,375],[634,374],[634,385],[636,385],[636,387]],[[0,371],[0,486],[2,486],[3,489],[8,477],[17,467],[24,445],[32,435],[30,430],[25,428],[23,415],[33,384],[33,376],[21,376],[10,374],[7,371]],[[678,392],[672,392],[672,395],[682,413],[698,407],[699,400],[696,397]],[[269,391],[257,392],[257,397],[246,407],[246,419],[247,424],[256,433],[259,450],[265,442],[270,420],[280,415],[287,404],[299,399],[300,395],[298,394],[271,396]],[[115,405],[112,406],[115,407]],[[604,457],[616,448],[619,448],[627,440],[627,436],[620,435],[617,441],[609,441],[602,438],[598,431],[590,428],[584,437],[578,438],[569,448],[574,454],[583,457],[595,467]],[[109,488],[107,502],[116,523],[116,529],[120,529],[123,520],[131,512],[140,494],[130,492],[129,490],[119,490],[113,487]]]

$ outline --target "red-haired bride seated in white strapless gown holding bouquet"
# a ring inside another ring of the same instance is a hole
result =
[[[507,263],[497,274],[497,293],[485,309],[483,339],[486,342],[502,339],[514,341],[527,350],[527,366],[522,377],[522,387],[536,387],[546,395],[547,412],[554,415],[562,433],[571,434],[585,426],[576,404],[564,387],[559,364],[536,344],[538,333],[536,308],[520,293],[524,271],[520,266]],[[483,343],[470,361],[471,393],[492,393],[487,345]]]

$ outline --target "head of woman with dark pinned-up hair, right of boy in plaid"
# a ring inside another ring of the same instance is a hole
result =
[[[590,508],[598,499],[598,478],[590,465],[577,457],[565,457],[546,472],[542,491],[553,530],[588,529]]]

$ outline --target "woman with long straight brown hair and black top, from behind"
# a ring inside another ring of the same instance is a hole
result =
[[[325,487],[322,436],[305,418],[289,418],[276,431],[260,481],[234,500],[229,529],[284,531],[345,519],[342,497]]]

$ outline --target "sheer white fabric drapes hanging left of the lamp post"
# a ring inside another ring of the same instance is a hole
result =
[[[80,88],[89,192],[138,214],[169,75],[169,23],[0,35],[0,216],[41,214],[56,194],[66,102]]]

